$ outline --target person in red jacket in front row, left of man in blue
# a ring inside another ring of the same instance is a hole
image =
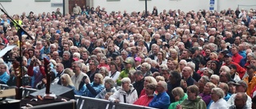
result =
[[[149,106],[149,103],[154,98],[154,91],[156,90],[155,84],[147,84],[146,85],[146,94],[142,95],[138,98],[137,101],[134,102],[134,104],[141,105],[141,106]]]

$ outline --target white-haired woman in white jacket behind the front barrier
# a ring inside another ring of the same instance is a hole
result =
[[[138,99],[138,93],[130,84],[130,78],[122,78],[121,83],[122,88],[110,95],[109,100],[114,103],[134,103]]]

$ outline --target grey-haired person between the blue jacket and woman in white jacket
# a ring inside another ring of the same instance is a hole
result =
[[[114,80],[106,79],[104,84],[104,89],[96,95],[96,99],[109,99],[110,95],[113,95],[116,90],[114,87]]]

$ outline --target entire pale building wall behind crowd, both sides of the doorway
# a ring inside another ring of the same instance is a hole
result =
[[[1,0],[0,0],[1,1]],[[1,2],[2,6],[6,9],[7,13],[22,14],[26,12],[29,14],[33,11],[34,14],[42,12],[52,12],[57,8],[61,9],[62,6],[52,7],[51,3],[62,3],[63,0],[50,0],[50,2],[34,2],[34,0],[11,0],[11,2]],[[128,13],[132,11],[143,11],[145,10],[145,1],[139,0],[120,0],[118,2],[107,2],[108,0],[86,0],[88,6],[101,6],[106,7],[107,12],[112,10],[127,10]],[[68,7],[68,0],[65,0],[66,7]],[[181,9],[185,12],[189,10],[209,10],[210,0],[148,0],[148,10],[152,11],[154,6],[158,7],[158,11],[162,10],[178,10]],[[215,10],[225,10],[227,8],[236,9],[238,5],[255,5],[255,6],[242,6],[244,9],[250,9],[254,7],[256,9],[255,0],[215,0]],[[66,9],[68,12],[68,8]],[[2,14],[2,12],[0,12]]]

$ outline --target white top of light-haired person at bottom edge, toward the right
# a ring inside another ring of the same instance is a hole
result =
[[[226,105],[225,99],[218,99],[217,102],[213,102],[210,104],[209,109],[227,109],[229,105]]]

